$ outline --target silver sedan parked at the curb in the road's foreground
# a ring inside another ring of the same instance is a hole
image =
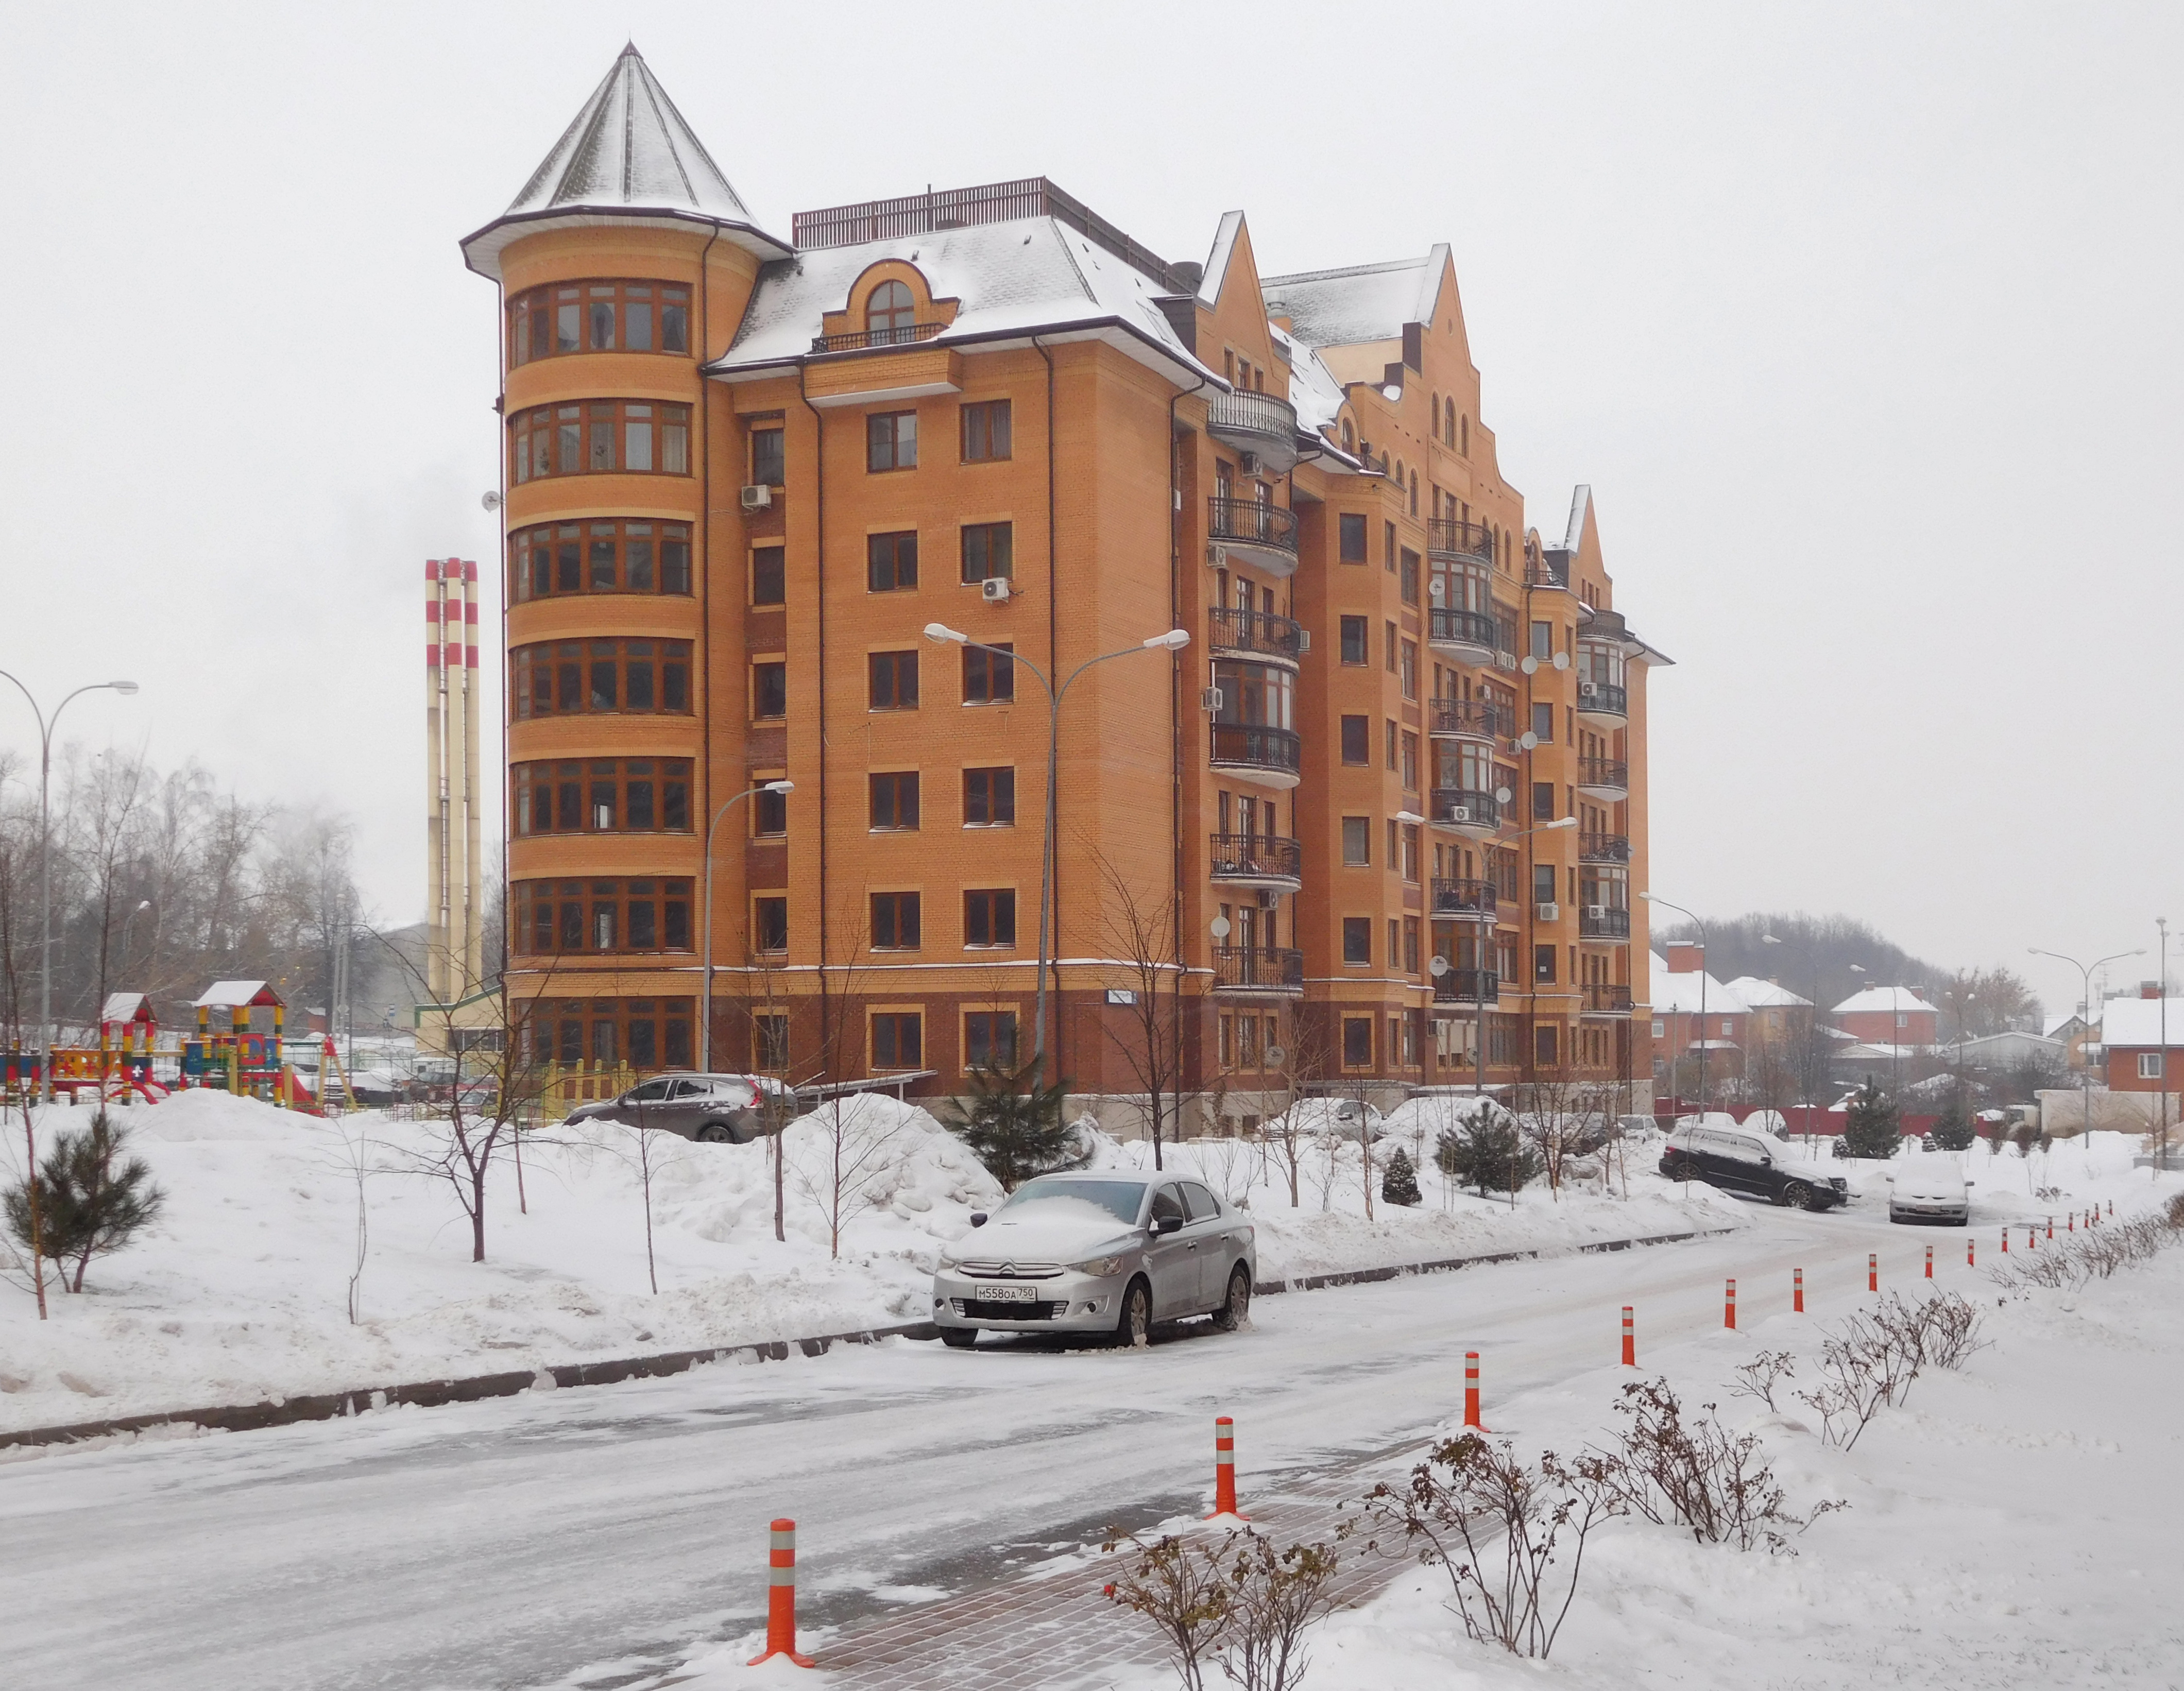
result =
[[[1103,1169],[1026,1180],[941,1250],[933,1324],[950,1346],[978,1333],[1079,1333],[1144,1344],[1155,1322],[1251,1309],[1251,1223],[1201,1182]]]

